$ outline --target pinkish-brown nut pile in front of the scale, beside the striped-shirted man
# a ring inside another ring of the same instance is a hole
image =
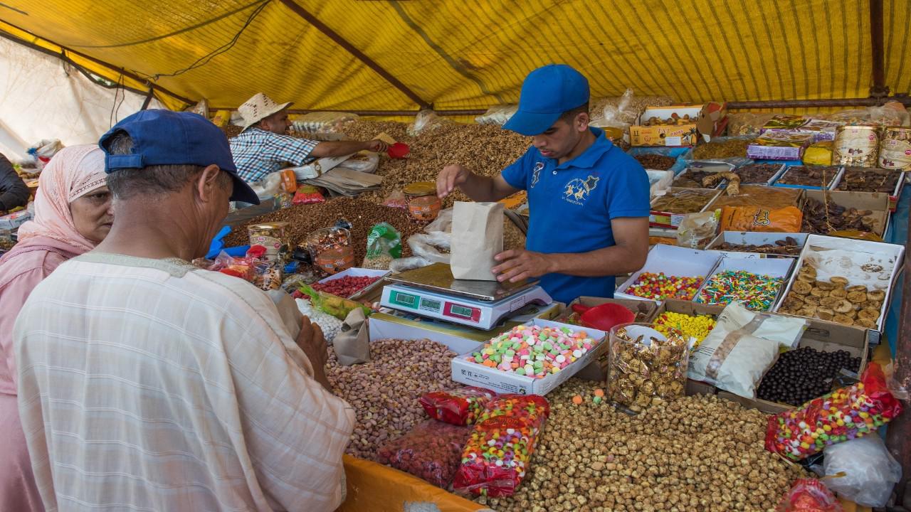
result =
[[[374,460],[386,441],[426,419],[422,394],[451,389],[451,361],[457,355],[430,340],[377,340],[369,363],[342,366],[330,349],[326,376],[336,396],[354,408],[357,425],[345,453]]]

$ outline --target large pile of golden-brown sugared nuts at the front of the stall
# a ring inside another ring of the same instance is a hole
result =
[[[759,411],[697,395],[628,416],[594,404],[599,385],[570,379],[548,394],[525,482],[512,497],[476,500],[498,512],[764,511],[805,476],[765,450]]]

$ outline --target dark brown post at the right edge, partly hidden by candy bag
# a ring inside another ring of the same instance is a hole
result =
[[[908,224],[908,240],[911,240],[911,224]],[[898,319],[898,339],[896,340],[896,360],[894,380],[903,390],[911,390],[911,255],[905,251],[905,277],[902,285],[902,309]],[[911,492],[908,491],[908,478],[911,477],[911,416],[905,401],[905,413],[898,415],[888,425],[885,444],[889,452],[902,465],[902,479],[896,484],[896,505],[911,505]]]

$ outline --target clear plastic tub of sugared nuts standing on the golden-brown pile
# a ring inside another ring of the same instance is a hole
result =
[[[640,413],[683,396],[690,351],[683,335],[650,323],[621,323],[609,334],[608,399]]]

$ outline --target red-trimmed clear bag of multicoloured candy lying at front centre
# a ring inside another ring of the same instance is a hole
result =
[[[535,440],[550,414],[537,394],[503,394],[487,404],[462,452],[453,488],[488,497],[512,496],[525,477]]]

